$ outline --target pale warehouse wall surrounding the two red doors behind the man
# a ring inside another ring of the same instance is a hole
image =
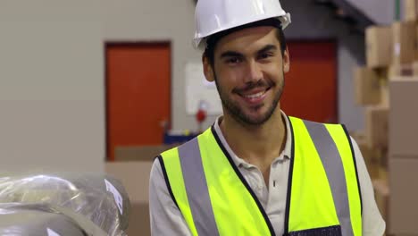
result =
[[[339,118],[350,130],[363,128],[352,86],[363,36],[310,1],[282,4],[293,14],[288,38],[339,39]],[[171,40],[171,122],[175,130],[196,128],[184,96],[184,66],[200,61],[193,12],[192,0],[2,1],[0,169],[103,170],[104,41]]]

